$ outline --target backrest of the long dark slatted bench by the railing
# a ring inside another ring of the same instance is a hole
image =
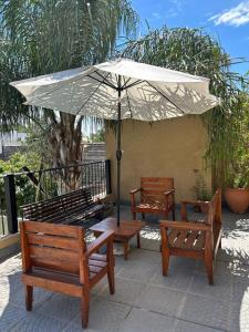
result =
[[[22,206],[23,218],[40,221],[60,221],[64,212],[75,210],[77,207],[91,207],[95,203],[89,188],[71,191],[54,198],[41,200]]]

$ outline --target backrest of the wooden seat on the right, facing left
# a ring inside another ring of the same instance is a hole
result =
[[[214,224],[221,224],[221,189],[217,189],[211,200],[208,203],[208,214],[206,224],[214,226]]]

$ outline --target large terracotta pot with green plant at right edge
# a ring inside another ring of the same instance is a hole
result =
[[[225,199],[235,214],[245,214],[249,207],[249,154],[242,149],[230,164]]]

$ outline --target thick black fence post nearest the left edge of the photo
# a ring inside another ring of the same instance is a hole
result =
[[[18,209],[17,209],[14,175],[7,174],[3,176],[3,179],[4,179],[4,191],[6,191],[8,230],[10,234],[14,234],[18,232]]]

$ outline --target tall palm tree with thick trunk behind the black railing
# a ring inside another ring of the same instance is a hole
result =
[[[102,62],[136,23],[128,0],[0,0],[1,129],[45,118],[53,166],[81,160],[84,117],[23,106],[9,82]]]

